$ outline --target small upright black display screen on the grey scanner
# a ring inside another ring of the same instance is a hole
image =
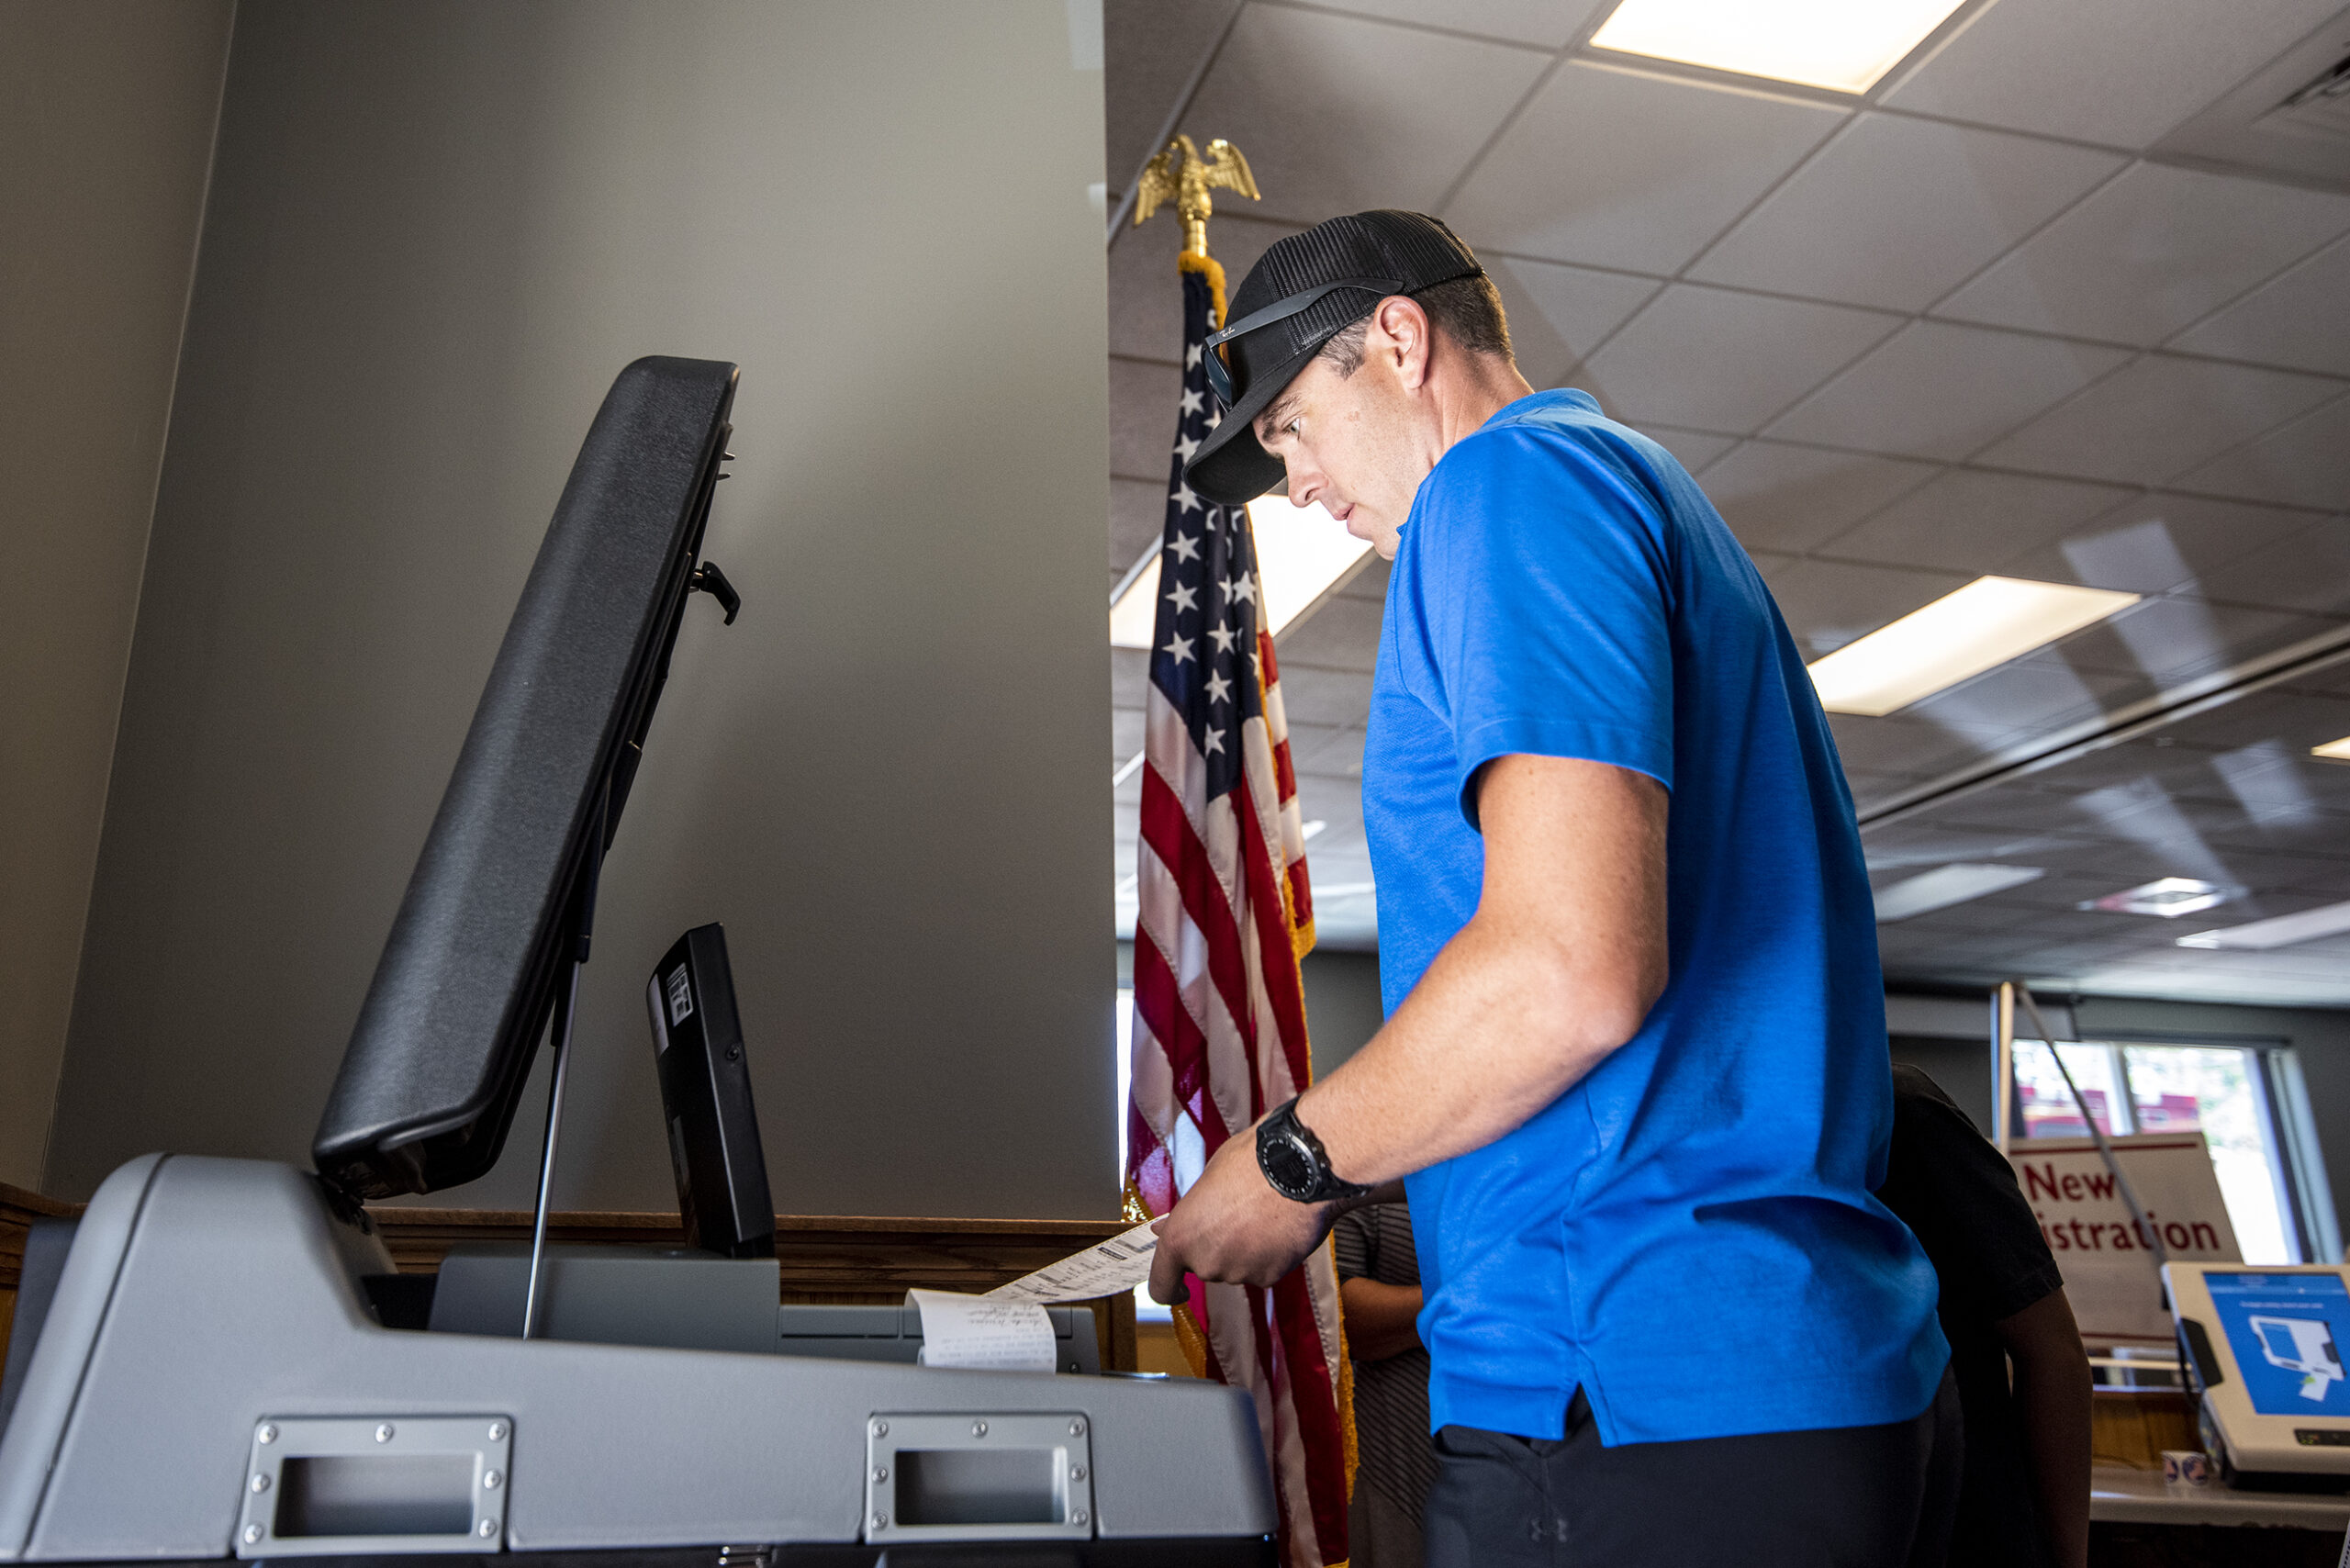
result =
[[[726,929],[686,931],[644,983],[660,1067],[660,1112],[686,1246],[726,1258],[776,1253],[776,1204],[750,1103],[743,1018],[736,1013]]]

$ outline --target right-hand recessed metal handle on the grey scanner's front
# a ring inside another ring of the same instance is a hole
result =
[[[874,1415],[865,1450],[870,1542],[1093,1535],[1093,1427],[1081,1413]]]

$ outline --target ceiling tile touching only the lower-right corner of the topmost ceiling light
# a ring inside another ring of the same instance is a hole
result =
[[[1925,310],[2120,167],[2115,153],[1859,115],[1690,277]]]

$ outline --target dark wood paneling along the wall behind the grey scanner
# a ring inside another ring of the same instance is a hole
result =
[[[16,1305],[24,1232],[40,1215],[75,1215],[59,1204],[0,1182],[0,1356]],[[524,1208],[404,1208],[367,1211],[402,1274],[430,1274],[458,1241],[529,1241]],[[912,1288],[994,1291],[1029,1269],[1107,1241],[1123,1220],[928,1220],[855,1215],[776,1215],[776,1258],[787,1302],[898,1302]],[[684,1246],[674,1213],[555,1213],[550,1241],[634,1241]],[[1104,1295],[1093,1307],[1102,1366],[1135,1371],[1135,1302]]]

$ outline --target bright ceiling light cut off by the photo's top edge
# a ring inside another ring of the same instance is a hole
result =
[[[1600,49],[1868,92],[1960,0],[1624,0]]]

